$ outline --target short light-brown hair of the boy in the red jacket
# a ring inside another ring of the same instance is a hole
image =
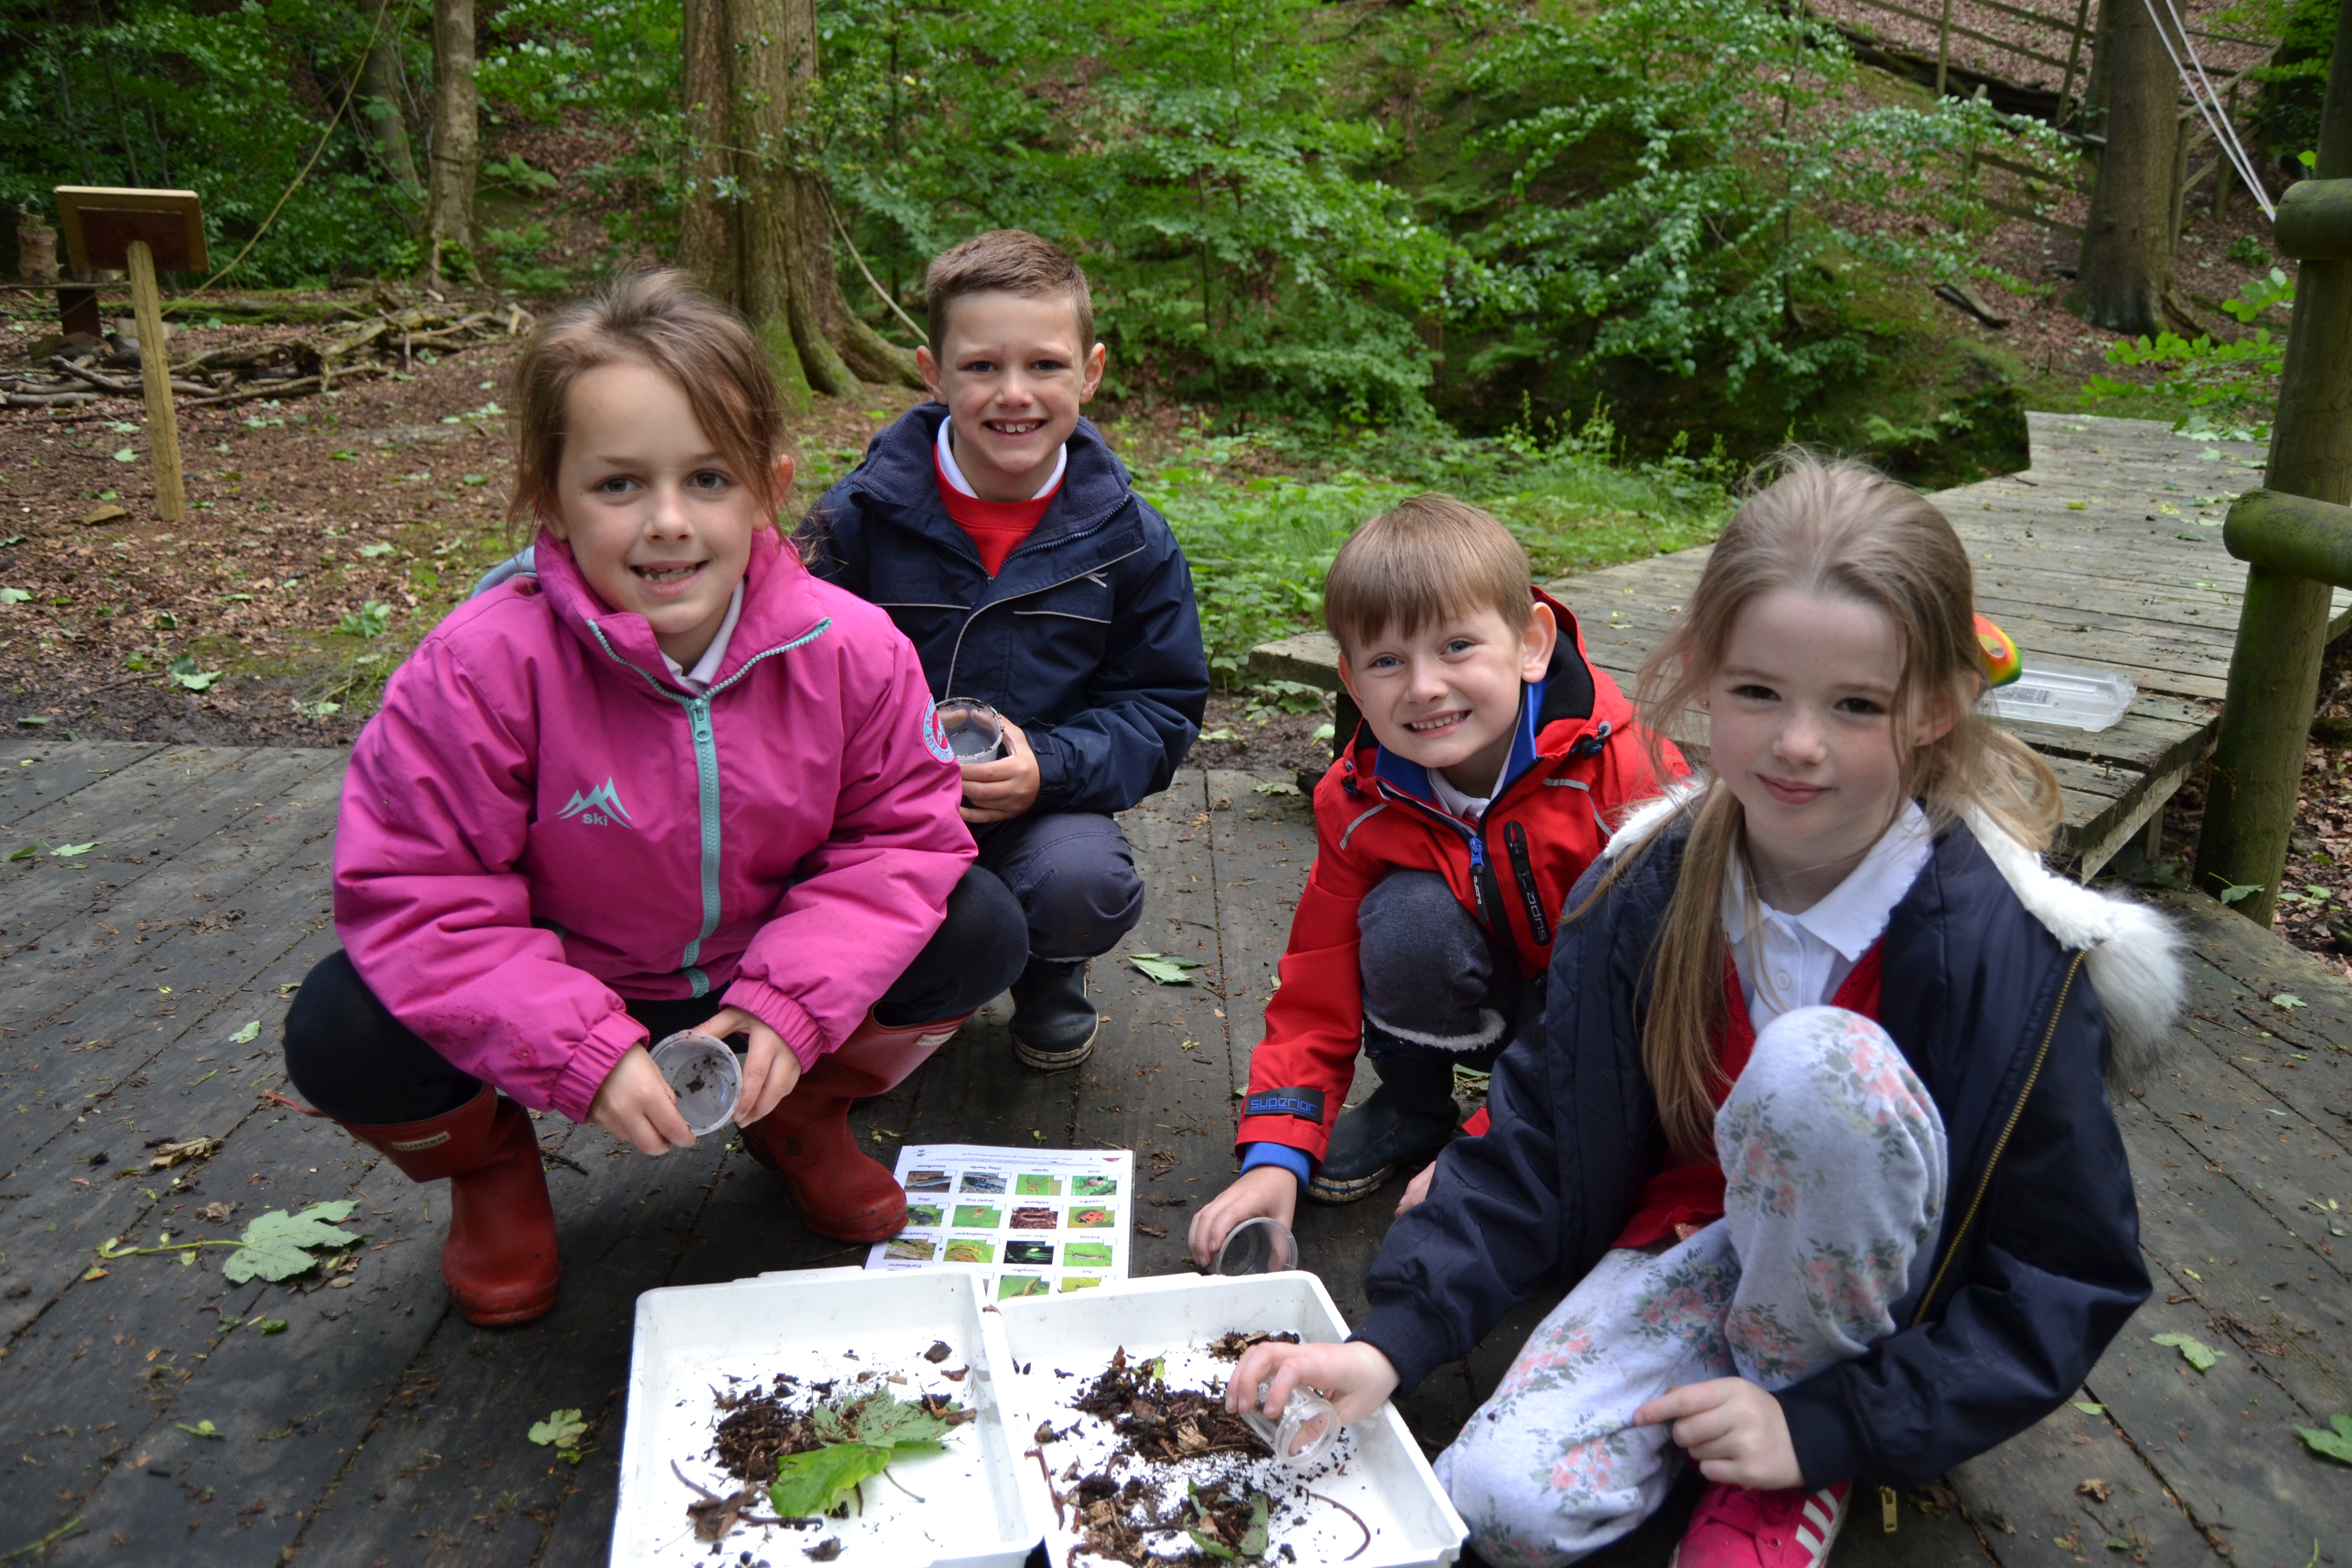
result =
[[[1531,576],[1526,550],[1501,522],[1454,496],[1414,496],[1338,548],[1324,576],[1324,628],[1341,654],[1482,609],[1517,632],[1536,607]]]

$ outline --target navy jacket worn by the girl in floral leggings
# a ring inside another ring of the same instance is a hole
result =
[[[1449,1145],[1428,1201],[1388,1232],[1355,1338],[1404,1389],[1548,1274],[1592,1269],[1663,1166],[1639,1020],[1684,842],[1668,827],[1562,929],[1545,1013],[1496,1060],[1491,1131]],[[2086,954],[2058,945],[1964,825],[1936,837],[1882,940],[1879,1025],[1943,1114],[1950,1199],[1933,1276],[1915,1274],[1896,1333],[1780,1389],[1806,1486],[1917,1486],[2016,1436],[2147,1300]]]

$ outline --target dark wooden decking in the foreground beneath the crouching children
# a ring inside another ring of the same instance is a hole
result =
[[[287,994],[334,943],[339,780],[322,750],[0,741],[0,853],[92,844],[0,863],[0,1554],[49,1540],[28,1561],[597,1563],[635,1295],[856,1260],[800,1229],[724,1140],[644,1159],[546,1119],[562,1305],[520,1331],[454,1319],[445,1190],[270,1098]],[[1138,1232],[1136,1267],[1185,1267],[1185,1220],[1232,1171],[1232,1093],[1315,844],[1305,802],[1261,783],[1188,771],[1127,816],[1152,896],[1124,950],[1197,957],[1200,985],[1098,964],[1103,1044],[1056,1077],[1014,1067],[993,1009],[858,1107],[875,1147],[1134,1147],[1136,1215],[1167,1232]],[[1839,1563],[2352,1561],[2352,1469],[2293,1436],[2352,1410],[2352,1251],[2333,1234],[2352,1229],[2352,985],[2206,900],[2176,907],[2201,952],[2197,1013],[2119,1112],[2157,1295],[2082,1389],[2098,1410],[2063,1408],[1910,1497],[1893,1535],[1863,1507]],[[151,1143],[195,1135],[226,1143],[146,1168]],[[341,1197],[367,1241],[332,1279],[228,1286],[214,1248],[195,1265],[94,1253],[162,1229],[233,1237],[263,1208]],[[1301,1218],[1305,1262],[1350,1316],[1392,1197]],[[228,1218],[202,1218],[212,1204]],[[1550,1298],[1404,1401],[1425,1443],[1451,1436]],[[261,1319],[287,1328],[261,1335]],[[2197,1375],[2154,1333],[2225,1356]],[[524,1436],[569,1406],[595,1422],[579,1467]],[[1604,1561],[1663,1563],[1672,1530],[1668,1516]]]

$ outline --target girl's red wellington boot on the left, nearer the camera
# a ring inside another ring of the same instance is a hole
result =
[[[539,1138],[520,1105],[482,1086],[466,1105],[430,1121],[341,1124],[381,1150],[414,1182],[449,1180],[449,1239],[442,1279],[468,1324],[529,1324],[555,1305],[555,1206],[539,1164]]]

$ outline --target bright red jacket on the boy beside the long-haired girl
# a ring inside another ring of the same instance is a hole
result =
[[[1428,773],[1383,752],[1362,724],[1315,785],[1315,867],[1291,917],[1282,985],[1249,1058],[1237,1143],[1282,1143],[1319,1161],[1338,1121],[1364,1032],[1357,905],[1397,867],[1430,870],[1536,978],[1576,879],[1602,853],[1625,806],[1658,795],[1632,701],[1585,658],[1576,616],[1541,588],[1559,642],[1526,686],[1508,783],[1470,825],[1437,804]],[[1661,741],[1670,778],[1686,766]]]

